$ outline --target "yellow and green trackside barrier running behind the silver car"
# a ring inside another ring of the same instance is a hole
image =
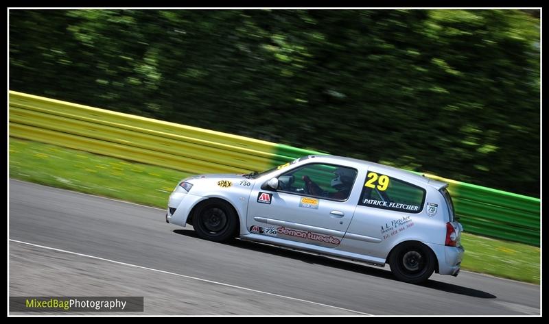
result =
[[[10,136],[197,174],[264,171],[303,155],[327,154],[15,91]],[[314,177],[331,177],[324,173]],[[425,177],[449,184],[465,232],[539,246],[540,199]]]

